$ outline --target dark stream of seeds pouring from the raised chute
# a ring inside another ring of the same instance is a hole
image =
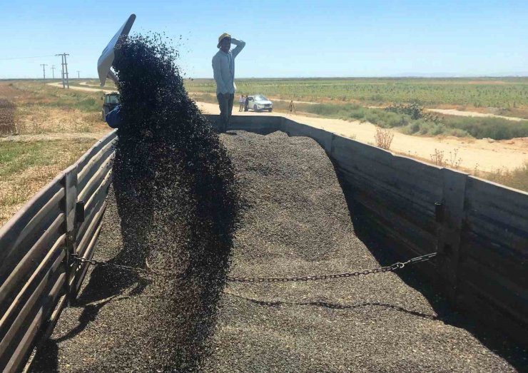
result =
[[[239,203],[231,160],[188,98],[176,57],[158,36],[128,37],[116,51],[122,124],[113,185],[123,235],[116,262],[173,272],[154,276],[162,297],[151,304],[146,344],[153,369],[190,371],[207,352]]]

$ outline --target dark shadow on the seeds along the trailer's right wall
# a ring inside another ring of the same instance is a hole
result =
[[[333,161],[332,161],[333,163]],[[376,258],[380,265],[391,265],[398,262],[402,258],[398,256],[393,250],[387,250],[387,247],[393,247],[395,242],[384,238],[380,232],[369,223],[368,212],[362,205],[354,200],[354,189],[347,183],[345,178],[341,175],[337,165],[334,163],[335,173],[341,185],[345,200],[347,201],[348,210],[352,219],[352,225],[357,237],[365,243],[365,246],[370,250],[372,255]],[[479,342],[484,344],[488,349],[498,354],[503,359],[512,364],[519,372],[526,369],[527,357],[526,350],[514,342],[512,339],[504,336],[496,330],[490,329],[481,323],[470,319],[465,315],[457,312],[430,281],[424,281],[423,275],[411,267],[397,272],[397,275],[410,287],[418,290],[427,298],[427,301],[437,313],[437,320],[441,320],[446,324],[453,325],[466,329],[474,335]]]

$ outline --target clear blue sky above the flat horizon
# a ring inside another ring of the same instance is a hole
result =
[[[457,76],[528,71],[528,1],[4,1],[0,78],[39,78],[40,63],[96,77],[129,14],[132,32],[179,39],[187,77],[210,78],[224,31],[246,41],[238,78]],[[39,58],[28,58],[39,56]],[[8,59],[11,58],[11,59]],[[16,59],[12,59],[16,58]],[[59,71],[59,70],[56,70]],[[57,76],[57,74],[56,74]]]

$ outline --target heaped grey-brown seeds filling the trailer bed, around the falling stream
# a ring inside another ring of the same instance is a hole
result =
[[[230,275],[318,275],[397,259],[375,245],[375,232],[355,222],[333,165],[314,140],[244,131],[220,137],[246,205]],[[111,260],[121,250],[112,193],[97,245],[97,260]],[[109,267],[91,271],[78,305],[64,310],[36,357],[35,370],[174,367],[151,350],[164,322],[178,317],[152,322],[153,305],[166,302],[152,290],[152,280]],[[457,315],[407,269],[341,280],[229,282],[219,309],[200,362],[204,372],[515,372],[526,362],[520,347]],[[185,362],[177,363],[185,370]]]

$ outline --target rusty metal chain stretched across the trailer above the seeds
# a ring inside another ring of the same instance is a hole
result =
[[[413,257],[407,262],[396,262],[393,265],[387,265],[386,267],[375,268],[373,270],[362,270],[357,272],[344,272],[344,273],[332,273],[330,275],[313,275],[313,276],[295,276],[295,277],[226,277],[226,280],[231,282],[296,282],[296,281],[316,281],[316,280],[328,280],[335,278],[344,278],[344,277],[357,277],[361,275],[370,275],[372,273],[380,272],[394,272],[395,270],[400,270],[406,265],[413,265],[420,262],[425,262],[431,260],[433,257],[437,256],[436,252],[431,254],[421,255],[419,257]],[[156,275],[171,276],[174,277],[176,274],[172,272],[156,272],[146,268],[138,267],[129,267],[128,265],[117,265],[109,262],[99,262],[98,260],[88,260],[83,257],[78,257],[73,255],[73,260],[81,263],[88,263],[88,265],[109,265],[111,267],[118,267],[124,270],[131,270],[136,272],[147,272],[153,273]]]

